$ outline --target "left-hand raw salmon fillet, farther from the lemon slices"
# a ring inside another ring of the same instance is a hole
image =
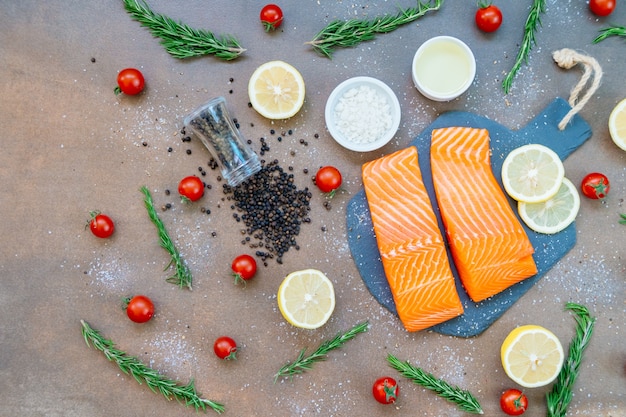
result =
[[[404,327],[418,331],[462,314],[417,149],[368,162],[362,170],[383,268]]]

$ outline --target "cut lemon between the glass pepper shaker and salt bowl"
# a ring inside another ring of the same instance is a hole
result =
[[[304,79],[293,66],[270,61],[258,67],[248,82],[250,104],[268,119],[288,119],[304,103]]]

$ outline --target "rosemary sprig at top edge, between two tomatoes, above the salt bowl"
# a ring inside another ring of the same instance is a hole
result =
[[[413,22],[426,13],[439,10],[443,0],[419,1],[416,7],[400,9],[395,15],[386,14],[373,19],[334,20],[322,29],[312,41],[306,42],[315,51],[332,58],[333,49],[348,48],[374,39],[377,34],[391,32]]]

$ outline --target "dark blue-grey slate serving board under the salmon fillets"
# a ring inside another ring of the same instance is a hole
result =
[[[566,101],[557,98],[528,125],[517,131],[511,131],[486,117],[458,111],[442,114],[430,126],[424,129],[411,142],[411,145],[417,147],[424,184],[431,202],[435,206],[435,214],[437,215],[440,230],[444,229],[441,215],[438,207],[436,207],[437,200],[430,173],[430,137],[433,129],[467,126],[489,130],[492,148],[491,166],[496,179],[502,186],[500,180],[502,163],[506,155],[513,149],[529,143],[539,143],[553,149],[564,160],[591,137],[591,128],[579,116],[575,116],[565,130],[560,131],[558,129],[559,121],[570,109],[571,107]],[[514,208],[514,212],[517,213],[517,203],[512,199],[510,199],[510,203]],[[376,236],[374,235],[364,190],[358,192],[348,203],[346,220],[348,244],[361,278],[374,298],[389,311],[397,315],[393,296],[380,261]],[[457,318],[433,326],[432,330],[460,337],[472,337],[482,333],[565,256],[576,243],[576,227],[574,223],[555,235],[536,233],[525,225],[524,227],[535,248],[534,259],[537,264],[537,274],[487,300],[474,303],[463,289],[456,268],[451,263],[457,291],[465,312]],[[452,259],[449,248],[448,257]]]

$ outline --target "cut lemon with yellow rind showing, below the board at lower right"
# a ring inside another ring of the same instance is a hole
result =
[[[504,372],[526,388],[548,385],[561,371],[565,355],[559,339],[536,325],[520,326],[504,339],[500,349]]]

